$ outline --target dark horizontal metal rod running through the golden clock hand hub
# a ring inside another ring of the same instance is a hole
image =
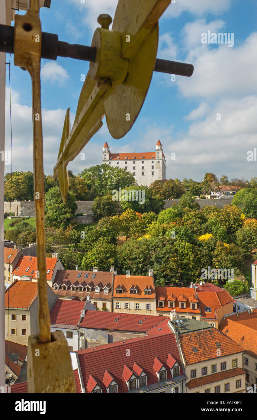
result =
[[[14,27],[0,25],[0,51],[13,53]],[[70,57],[76,60],[95,61],[96,48],[87,45],[69,44],[58,40],[58,35],[42,32],[41,58],[56,60],[57,57]],[[156,59],[154,71],[160,73],[176,74],[190,77],[193,74],[192,64],[178,63],[177,61]]]

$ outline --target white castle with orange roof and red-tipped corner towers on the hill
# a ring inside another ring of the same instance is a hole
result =
[[[142,153],[110,153],[109,146],[105,142],[102,149],[102,163],[130,171],[138,185],[150,186],[152,182],[165,179],[166,176],[166,160],[160,140],[155,146],[155,152]]]

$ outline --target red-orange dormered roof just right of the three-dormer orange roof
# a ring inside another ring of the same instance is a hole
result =
[[[190,300],[189,298],[192,296],[193,299],[197,299],[194,289],[191,287],[166,287],[166,286],[156,286],[155,287],[156,295],[164,295],[165,301],[164,301],[164,307],[156,307],[157,312],[158,311],[167,311],[170,312],[170,308],[168,307],[168,299],[174,302],[175,300],[175,310],[176,312],[190,312],[192,314],[199,314],[200,310],[197,304],[197,309],[191,309],[190,308]],[[157,297],[158,299],[158,297]],[[186,302],[186,308],[182,309],[179,307],[179,301]],[[195,300],[193,300],[195,302]],[[197,302],[197,300],[196,300]]]

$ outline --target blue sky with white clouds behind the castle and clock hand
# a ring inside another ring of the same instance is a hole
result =
[[[97,16],[114,17],[117,0],[52,0],[40,9],[42,31],[59,40],[90,45]],[[108,5],[108,6],[107,6]],[[166,156],[166,178],[201,181],[206,172],[228,178],[257,176],[257,162],[247,161],[247,151],[257,147],[257,2],[254,0],[176,0],[159,21],[158,58],[194,65],[190,78],[154,73],[132,129],[113,139],[104,125],[68,169],[78,173],[102,163],[102,145],[111,152],[150,152],[157,140]],[[20,12],[24,13],[24,12]],[[203,32],[234,34],[234,45],[202,44]],[[7,55],[7,60],[9,55]],[[71,123],[89,63],[58,57],[41,63],[42,121],[45,173],[53,173],[66,109]],[[33,171],[31,80],[27,72],[10,66],[13,171]],[[10,150],[9,75],[7,69],[5,149]],[[217,114],[220,113],[220,121]],[[171,153],[176,160],[171,160]],[[5,172],[9,172],[9,165]]]

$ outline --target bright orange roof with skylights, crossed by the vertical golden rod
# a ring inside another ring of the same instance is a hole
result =
[[[47,280],[51,280],[52,273],[55,269],[55,264],[57,262],[57,258],[47,257],[45,260],[46,260],[47,271],[50,270],[50,272],[47,274]],[[26,271],[27,268],[29,268],[28,271]],[[37,257],[29,257],[27,255],[21,255],[21,257],[18,259],[16,266],[13,268],[12,274],[13,276],[15,275],[16,276],[32,276],[32,278],[37,278],[36,271],[37,271]]]

